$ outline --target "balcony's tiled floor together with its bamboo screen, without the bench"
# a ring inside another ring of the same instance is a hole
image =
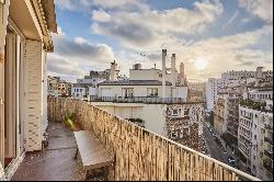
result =
[[[259,181],[242,171],[153,134],[87,102],[49,99],[49,146],[28,153],[13,180],[79,180],[82,167],[72,159],[72,133],[61,127],[67,113],[76,114],[82,129],[92,130],[114,153],[112,180]],[[58,148],[56,148],[58,146]]]

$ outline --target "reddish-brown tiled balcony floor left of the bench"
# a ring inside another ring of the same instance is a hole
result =
[[[49,123],[49,145],[44,151],[26,153],[13,175],[13,181],[79,181],[84,171],[80,159],[75,160],[73,133],[60,123]],[[93,179],[99,180],[99,179]]]

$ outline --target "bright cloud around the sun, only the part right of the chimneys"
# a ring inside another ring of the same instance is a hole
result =
[[[218,77],[226,70],[254,70],[259,65],[272,69],[272,52],[250,48],[270,34],[273,34],[273,27],[265,26],[252,32],[204,39],[182,48],[183,54],[178,56],[185,62],[189,76],[195,79]],[[192,62],[199,57],[208,59],[204,71],[197,71]]]

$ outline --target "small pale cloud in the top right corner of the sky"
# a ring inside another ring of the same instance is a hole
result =
[[[266,23],[273,23],[273,0],[239,0],[239,5]]]

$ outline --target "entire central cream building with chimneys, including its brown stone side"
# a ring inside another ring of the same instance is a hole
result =
[[[171,68],[167,68],[165,59],[167,50],[163,49],[162,69],[142,69],[140,64],[134,65],[127,80],[117,80],[111,73],[109,81],[98,83],[98,94],[91,96],[91,104],[129,121],[142,121],[145,128],[199,150],[204,103],[187,102],[183,64],[179,72],[175,55],[171,57]],[[115,66],[111,72],[114,70]]]

